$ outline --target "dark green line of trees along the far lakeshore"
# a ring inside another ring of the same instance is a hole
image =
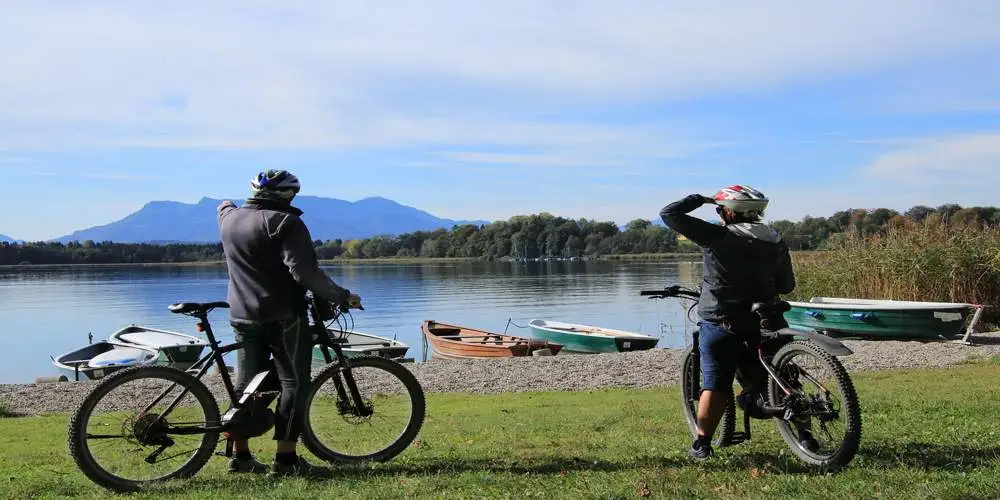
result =
[[[893,224],[918,223],[1000,225],[1000,209],[916,206],[903,213],[892,209],[844,210],[830,217],[798,222],[771,222],[792,250],[818,250],[849,232],[876,234]],[[662,226],[635,219],[619,228],[613,222],[567,219],[548,213],[521,215],[484,225],[451,230],[417,231],[397,236],[314,242],[320,259],[385,257],[468,257],[535,259],[595,257],[609,254],[696,252],[697,247]],[[0,265],[126,264],[205,262],[224,259],[222,244],[29,242],[0,243]]]

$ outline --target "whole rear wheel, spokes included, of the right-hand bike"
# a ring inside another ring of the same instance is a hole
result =
[[[791,421],[775,420],[792,452],[823,469],[850,463],[861,444],[861,407],[844,366],[814,342],[801,340],[779,349],[773,365],[792,390],[789,396],[773,378],[768,383],[771,404],[787,405],[794,413]]]

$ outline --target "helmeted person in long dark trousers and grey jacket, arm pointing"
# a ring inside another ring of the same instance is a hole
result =
[[[242,207],[223,201],[218,207],[219,230],[229,268],[230,323],[237,351],[236,389],[242,392],[257,373],[274,365],[281,381],[281,396],[274,422],[277,452],[271,465],[274,475],[328,476],[296,453],[302,428],[304,398],[309,392],[312,335],[309,332],[305,292],[352,307],[360,298],[338,286],[320,270],[308,228],[291,205],[300,185],[285,170],[260,172],[250,182],[252,196]],[[266,473],[247,441],[234,440],[236,456],[229,463],[234,473]]]

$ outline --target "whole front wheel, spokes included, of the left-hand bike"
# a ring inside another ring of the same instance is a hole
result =
[[[420,432],[424,391],[416,377],[395,361],[366,356],[349,360],[349,366],[368,411],[356,411],[345,367],[331,364],[313,380],[302,442],[328,462],[384,462],[406,449]],[[338,395],[338,384],[347,399]]]

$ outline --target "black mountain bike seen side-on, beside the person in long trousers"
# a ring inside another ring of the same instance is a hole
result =
[[[326,365],[312,381],[303,444],[327,462],[382,462],[395,457],[423,424],[420,384],[395,361],[345,357],[341,344],[348,328],[341,320],[345,313],[350,316],[347,305],[315,297],[309,302],[314,349],[322,353]],[[169,306],[173,313],[196,318],[211,346],[211,352],[187,371],[169,366],[130,368],[91,390],[69,425],[70,455],[88,478],[128,492],[152,482],[190,477],[215,453],[220,435],[227,446],[218,454],[231,456],[234,439],[261,436],[274,426],[269,406],[281,386],[273,365],[254,377],[242,394],[236,393],[226,369],[223,355],[242,345],[220,346],[208,313],[228,307],[226,302]],[[334,322],[339,328],[330,327]],[[216,393],[225,391],[230,400],[223,415],[201,380],[213,364],[221,376],[221,384],[213,384]]]

